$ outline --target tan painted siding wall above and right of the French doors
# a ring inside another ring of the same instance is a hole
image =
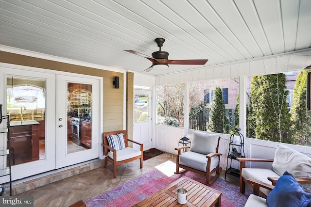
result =
[[[50,61],[25,55],[19,55],[10,52],[0,51],[0,62],[8,64],[18,64],[50,70],[78,73],[84,75],[103,77],[103,123],[104,132],[123,129],[123,73],[101,70],[97,68],[85,67],[74,64],[66,64],[56,61]],[[120,88],[114,88],[112,84],[114,77],[120,77]],[[133,81],[132,81],[133,84]],[[132,85],[133,89],[133,85]],[[132,91],[133,94],[133,91]],[[133,102],[133,99],[132,99]],[[133,107],[132,107],[133,109]],[[130,110],[131,111],[131,110]],[[133,114],[133,112],[132,112]],[[133,116],[132,116],[133,120]],[[133,133],[133,132],[132,132]]]

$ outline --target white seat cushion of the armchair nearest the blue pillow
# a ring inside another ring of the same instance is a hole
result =
[[[254,178],[264,183],[271,184],[271,181],[268,180],[268,177],[279,177],[273,170],[265,168],[242,168],[242,177],[246,180],[248,178]],[[261,192],[268,195],[269,190],[264,188],[259,188]]]

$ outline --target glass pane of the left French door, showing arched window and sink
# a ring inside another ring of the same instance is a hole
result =
[[[6,78],[12,166],[45,159],[46,80]]]

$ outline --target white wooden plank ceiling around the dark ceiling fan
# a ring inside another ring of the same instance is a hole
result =
[[[158,76],[311,47],[311,0],[0,0],[6,46],[142,72],[155,38],[170,65]]]

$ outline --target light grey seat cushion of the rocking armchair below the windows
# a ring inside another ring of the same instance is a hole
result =
[[[219,162],[218,156],[213,157],[211,161],[210,171],[217,167]],[[192,151],[184,152],[179,156],[179,164],[206,172],[207,158],[205,154]]]

